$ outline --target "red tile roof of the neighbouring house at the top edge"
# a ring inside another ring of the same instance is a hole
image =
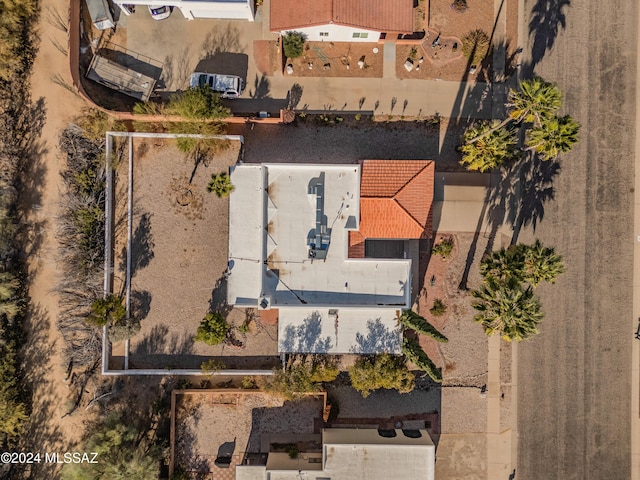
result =
[[[271,0],[271,30],[335,23],[378,32],[413,32],[413,0]]]

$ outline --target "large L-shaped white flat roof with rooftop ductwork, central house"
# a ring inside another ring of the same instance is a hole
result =
[[[410,260],[348,258],[359,165],[239,165],[231,181],[230,304],[409,306]]]

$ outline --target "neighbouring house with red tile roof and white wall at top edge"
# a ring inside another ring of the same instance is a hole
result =
[[[271,0],[270,22],[314,42],[377,42],[413,33],[413,0]]]

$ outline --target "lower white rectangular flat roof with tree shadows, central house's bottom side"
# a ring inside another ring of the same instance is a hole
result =
[[[278,312],[280,353],[402,352],[395,308],[283,307]]]

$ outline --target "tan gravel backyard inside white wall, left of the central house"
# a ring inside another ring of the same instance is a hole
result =
[[[253,320],[243,333],[239,327],[251,312],[226,304],[228,199],[207,191],[212,174],[235,164],[239,143],[198,164],[171,139],[135,139],[133,146],[131,311],[142,329],[131,339],[129,367],[199,369],[208,357],[226,356],[227,368],[271,368],[276,328]],[[117,170],[120,196],[127,169],[125,155]],[[120,198],[116,218],[126,219],[126,205]],[[117,293],[125,290],[126,233],[126,225],[116,227]],[[223,313],[235,327],[233,342],[194,342],[209,311]],[[123,342],[113,354],[124,354]]]

